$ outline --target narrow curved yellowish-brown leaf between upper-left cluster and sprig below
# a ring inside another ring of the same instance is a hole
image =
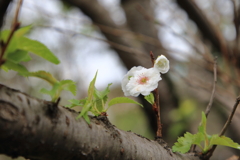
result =
[[[49,82],[51,85],[54,85],[57,82],[57,80],[51,75],[51,73],[46,71],[29,72],[28,76],[41,78]]]

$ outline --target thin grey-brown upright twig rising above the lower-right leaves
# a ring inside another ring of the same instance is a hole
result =
[[[214,94],[215,94],[215,90],[216,90],[216,83],[217,83],[217,57],[214,58],[213,72],[214,72],[213,89],[212,89],[212,94],[211,94],[211,97],[210,97],[210,101],[209,101],[208,106],[207,106],[207,108],[205,110],[206,117],[208,116],[208,114],[210,113],[210,110],[212,108],[213,98],[214,98]]]

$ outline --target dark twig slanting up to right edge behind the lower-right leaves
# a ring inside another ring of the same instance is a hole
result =
[[[226,132],[228,126],[230,125],[230,123],[231,123],[231,121],[232,121],[233,115],[234,115],[234,113],[235,113],[235,111],[236,111],[236,109],[237,109],[237,107],[238,107],[239,102],[240,102],[240,96],[236,99],[236,102],[235,102],[235,104],[234,104],[234,106],[233,106],[232,112],[231,112],[231,114],[229,115],[229,117],[228,117],[228,119],[227,119],[227,121],[226,121],[223,129],[221,130],[219,136],[223,136],[224,133]],[[213,154],[213,152],[214,152],[214,150],[215,150],[216,148],[217,148],[217,145],[214,145],[214,146],[206,153],[206,155],[205,155],[204,157],[205,157],[206,159],[209,159],[209,158],[212,156],[212,154]]]

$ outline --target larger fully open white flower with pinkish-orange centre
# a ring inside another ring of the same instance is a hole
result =
[[[133,67],[123,77],[122,90],[125,96],[137,97],[139,94],[146,96],[157,88],[161,79],[160,73],[155,68]]]

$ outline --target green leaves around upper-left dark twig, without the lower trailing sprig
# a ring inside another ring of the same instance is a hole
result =
[[[21,62],[28,62],[32,59],[29,53],[40,56],[54,64],[60,63],[58,58],[44,44],[25,37],[31,28],[32,26],[29,25],[14,32],[3,56],[5,62],[1,65],[1,68],[6,72],[14,70],[22,76],[27,76],[28,70]],[[10,33],[10,30],[1,31],[1,40],[3,43],[6,43]]]

